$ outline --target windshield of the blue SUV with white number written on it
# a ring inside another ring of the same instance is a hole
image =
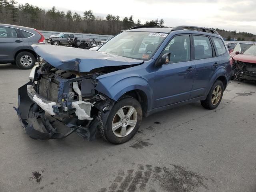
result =
[[[147,60],[153,56],[167,35],[167,33],[122,32],[106,42],[98,51]]]

